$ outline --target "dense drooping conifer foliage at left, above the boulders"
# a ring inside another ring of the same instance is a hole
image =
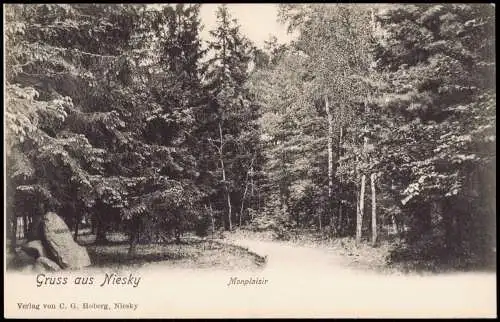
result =
[[[182,217],[178,208],[191,209],[196,195],[187,192],[192,158],[177,149],[183,141],[160,126],[165,137],[152,139],[151,125],[170,119],[181,133],[189,117],[169,109],[174,102],[158,93],[158,76],[132,77],[148,64],[144,52],[151,44],[144,38],[162,29],[144,23],[154,13],[140,5],[9,9],[17,28],[8,38],[7,136],[9,151],[18,152],[9,168],[11,178],[22,179],[13,184],[42,185],[60,210],[69,210],[63,214],[69,221],[86,210],[105,226],[144,214]]]

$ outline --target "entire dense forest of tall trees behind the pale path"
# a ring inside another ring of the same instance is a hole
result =
[[[262,48],[226,5],[202,39],[200,6],[4,7],[10,250],[55,211],[131,253],[270,230],[491,260],[493,6],[280,4],[297,37]]]

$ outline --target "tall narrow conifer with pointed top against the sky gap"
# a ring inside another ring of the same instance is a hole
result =
[[[246,86],[253,46],[225,5],[218,8],[217,26],[210,35],[211,57],[204,74],[208,104],[198,114],[197,135],[204,138],[202,175],[210,187],[206,196],[217,210],[225,209],[227,216],[221,220],[231,228],[233,207],[239,209],[242,223],[245,192],[253,179],[249,174],[258,170],[258,105]]]

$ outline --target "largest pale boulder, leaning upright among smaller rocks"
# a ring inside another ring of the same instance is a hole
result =
[[[43,240],[49,258],[61,268],[81,268],[91,264],[87,249],[78,245],[68,226],[56,213],[43,217]]]

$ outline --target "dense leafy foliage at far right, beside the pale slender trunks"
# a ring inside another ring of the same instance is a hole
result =
[[[484,252],[493,240],[486,200],[494,188],[485,174],[495,161],[494,12],[412,5],[378,19],[386,35],[374,57],[383,79],[372,101],[376,167],[391,179],[413,238],[444,238],[448,253]],[[431,220],[437,224],[426,226]]]

